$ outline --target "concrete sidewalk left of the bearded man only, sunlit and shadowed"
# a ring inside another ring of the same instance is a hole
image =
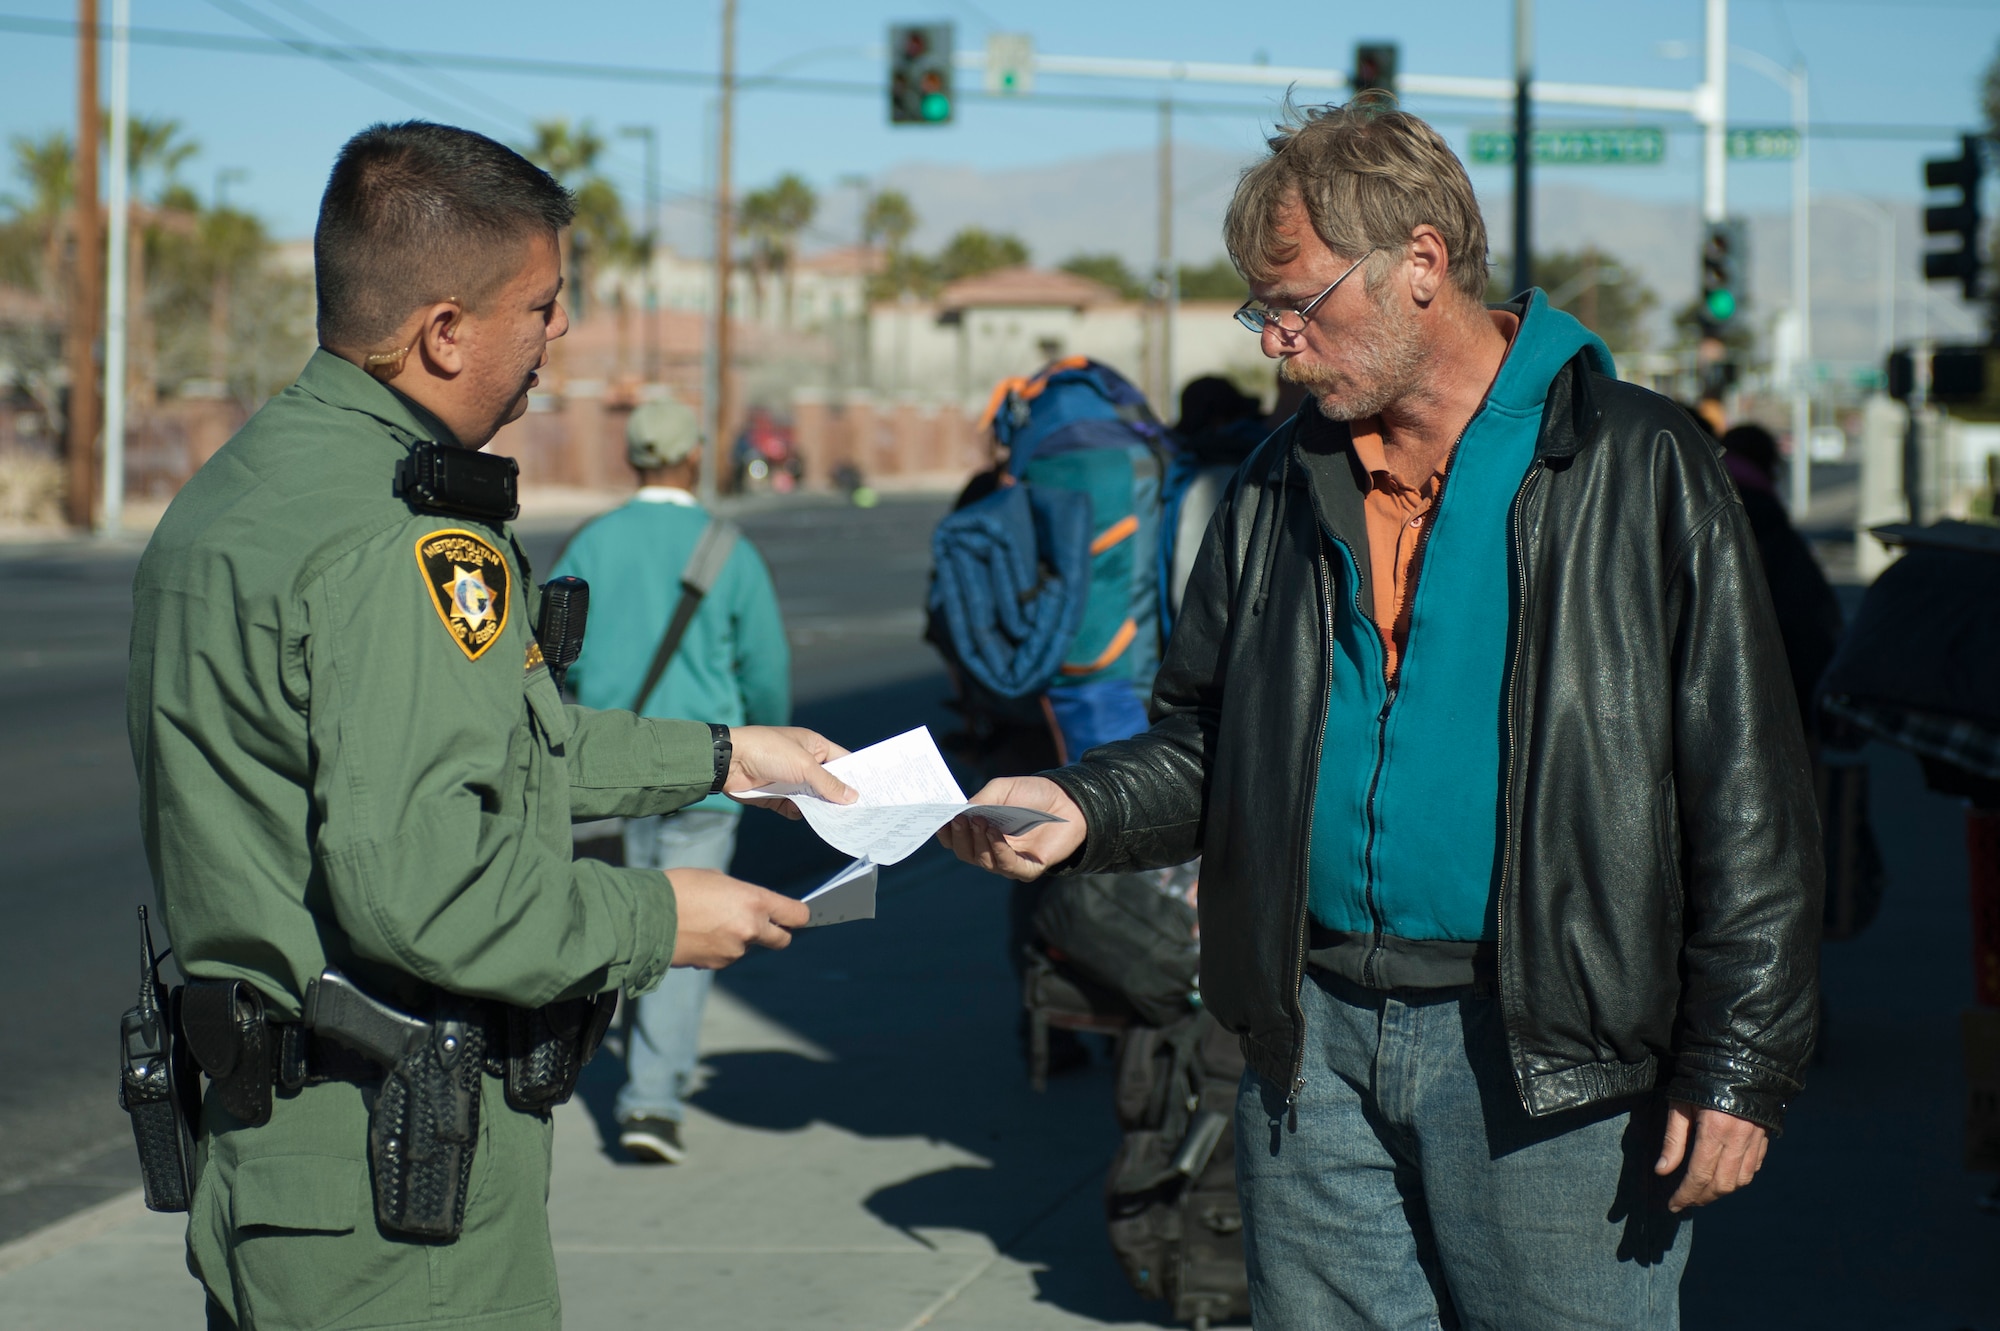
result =
[[[1160,1325],[1104,1239],[1108,1067],[1026,1087],[1006,887],[930,847],[878,913],[724,973],[688,1163],[606,1147],[592,1063],[556,1113],[566,1325]],[[200,1327],[180,1231],[134,1195],[0,1249],[0,1327]]]

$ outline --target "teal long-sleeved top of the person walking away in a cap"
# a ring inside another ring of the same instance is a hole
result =
[[[646,681],[680,600],[680,570],[706,526],[708,510],[700,506],[634,498],[570,540],[552,576],[570,574],[590,584],[584,652],[568,675],[576,701],[632,707],[632,693]],[[770,572],[748,538],[736,542],[680,650],[638,711],[716,725],[792,721],[792,650]],[[742,809],[726,795],[708,795],[690,807]]]

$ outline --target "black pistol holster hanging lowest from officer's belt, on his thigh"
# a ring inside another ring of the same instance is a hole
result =
[[[368,1107],[376,1221],[414,1239],[456,1239],[466,1221],[480,1139],[486,1021],[480,1005],[440,993],[430,1035],[382,1079]]]

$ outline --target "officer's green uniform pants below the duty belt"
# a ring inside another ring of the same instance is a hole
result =
[[[210,1325],[240,1331],[562,1325],[548,1243],[550,1123],[482,1077],[466,1225],[454,1243],[388,1237],[368,1181],[368,1109],[344,1081],[278,1095],[262,1127],[210,1135],[188,1215],[188,1269]]]

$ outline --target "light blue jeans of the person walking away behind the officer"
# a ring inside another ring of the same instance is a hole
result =
[[[626,865],[634,869],[728,869],[742,813],[682,809],[666,817],[626,819]],[[674,1119],[700,1057],[702,1009],[714,971],[674,967],[660,987],[632,1003],[626,1037],[626,1083],[618,1091],[618,1121]]]

